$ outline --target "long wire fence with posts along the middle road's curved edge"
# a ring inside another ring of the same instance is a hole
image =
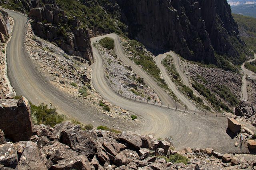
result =
[[[98,53],[100,55],[100,58],[102,59],[102,66],[103,66],[103,69],[104,69],[104,72],[106,72],[106,68],[105,68],[105,61],[100,53],[100,51],[98,50]],[[149,101],[149,100],[142,100],[141,97],[134,97],[132,95],[129,95],[129,94],[123,94],[121,92],[120,89],[118,88],[115,88],[114,85],[108,80],[108,77],[107,77],[107,74],[104,74],[104,79],[106,80],[108,86],[111,88],[111,90],[116,94],[118,95],[119,97],[125,99],[125,100],[129,100],[129,101],[133,101],[133,102],[138,102],[138,103],[141,103],[141,104],[149,104],[149,105],[153,105],[153,106],[158,106],[158,107],[162,107],[162,108],[167,108],[167,109],[171,109],[173,111],[179,111],[179,112],[183,112],[183,113],[189,113],[189,114],[194,114],[194,115],[201,115],[201,116],[204,116],[204,117],[226,117],[226,115],[222,114],[222,113],[212,113],[212,112],[209,112],[209,111],[196,111],[195,110],[190,110],[190,109],[187,109],[186,107],[173,107],[173,106],[170,106],[170,104],[167,105],[164,105],[162,103],[156,103],[156,102],[152,102],[152,101]],[[185,96],[186,97],[186,96]]]

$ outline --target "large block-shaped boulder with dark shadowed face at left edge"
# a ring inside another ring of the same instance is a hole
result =
[[[32,122],[30,119],[30,104],[25,97],[20,100],[0,100],[0,129],[5,138],[14,142],[29,141],[32,136]]]

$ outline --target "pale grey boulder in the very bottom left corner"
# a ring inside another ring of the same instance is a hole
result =
[[[19,169],[16,147],[12,142],[7,142],[3,145],[0,145],[0,169]]]

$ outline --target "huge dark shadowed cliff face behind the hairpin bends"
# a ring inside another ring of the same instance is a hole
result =
[[[226,0],[118,0],[130,35],[146,47],[216,63],[215,52],[239,57],[242,43]]]

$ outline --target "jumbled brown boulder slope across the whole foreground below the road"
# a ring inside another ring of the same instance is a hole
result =
[[[159,140],[153,135],[116,134],[100,128],[85,131],[70,122],[54,127],[33,125],[26,98],[0,103],[0,169],[4,170],[231,170],[256,166],[252,155],[222,154],[210,148],[176,151],[171,137]],[[255,152],[256,141],[250,139],[253,131],[241,129],[229,118],[227,133],[238,134],[236,140],[241,134],[244,142],[235,145]]]

